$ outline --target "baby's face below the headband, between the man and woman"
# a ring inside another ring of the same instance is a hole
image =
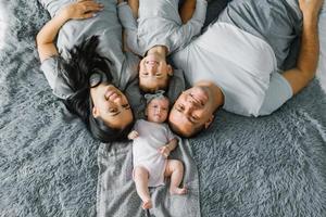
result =
[[[146,108],[147,119],[153,123],[164,123],[168,114],[167,99],[153,99]]]

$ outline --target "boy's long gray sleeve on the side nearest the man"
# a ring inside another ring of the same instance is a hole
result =
[[[192,37],[200,34],[201,27],[204,24],[205,16],[206,16],[206,8],[208,1],[206,0],[197,0],[196,1],[196,10],[192,14],[192,17],[183,25],[177,31],[177,43],[176,50],[184,48],[188,44]]]

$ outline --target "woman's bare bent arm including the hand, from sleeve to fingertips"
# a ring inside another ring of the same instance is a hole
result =
[[[60,28],[70,20],[90,18],[101,11],[103,5],[92,0],[79,0],[63,8],[58,15],[49,21],[37,34],[36,44],[40,62],[47,58],[58,55],[54,44]]]

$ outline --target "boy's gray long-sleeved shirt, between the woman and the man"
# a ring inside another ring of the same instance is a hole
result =
[[[154,46],[165,46],[168,53],[185,47],[198,35],[205,20],[206,0],[196,1],[196,11],[185,25],[178,13],[178,0],[139,0],[138,20],[126,2],[118,5],[118,16],[126,30],[127,44],[138,55]]]

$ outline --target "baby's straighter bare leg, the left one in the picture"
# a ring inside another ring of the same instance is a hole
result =
[[[149,173],[146,168],[140,166],[134,168],[134,180],[136,183],[136,190],[139,197],[142,201],[143,209],[152,207],[151,196],[148,190],[148,179]]]

